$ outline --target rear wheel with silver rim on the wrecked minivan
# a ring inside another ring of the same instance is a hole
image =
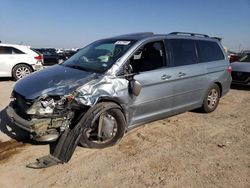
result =
[[[213,112],[217,108],[219,101],[220,101],[220,88],[217,84],[214,84],[209,87],[205,95],[201,111],[205,113]]]

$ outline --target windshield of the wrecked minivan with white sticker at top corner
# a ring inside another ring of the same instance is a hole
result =
[[[131,40],[100,40],[79,50],[62,65],[91,72],[105,72],[134,43]]]

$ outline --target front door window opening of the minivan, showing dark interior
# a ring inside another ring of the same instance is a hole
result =
[[[133,72],[145,72],[164,66],[165,51],[162,41],[150,42],[137,50],[130,59]]]

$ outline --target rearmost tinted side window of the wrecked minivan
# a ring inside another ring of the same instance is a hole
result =
[[[199,62],[209,62],[225,59],[217,42],[213,41],[197,41]]]

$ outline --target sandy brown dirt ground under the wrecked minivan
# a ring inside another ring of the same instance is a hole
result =
[[[14,82],[0,81],[0,187],[250,187],[250,89],[234,88],[210,114],[145,124],[102,150],[78,147],[67,164],[25,165],[49,153],[11,125]]]

